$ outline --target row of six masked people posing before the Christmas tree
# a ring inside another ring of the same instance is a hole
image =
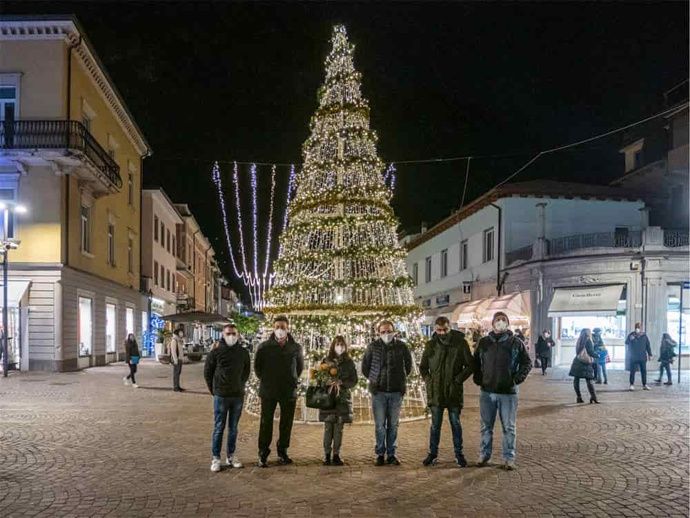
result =
[[[257,348],[255,374],[259,379],[261,418],[259,423],[258,466],[268,466],[273,440],[273,418],[280,408],[279,433],[276,443],[280,464],[291,464],[288,456],[290,435],[297,407],[297,388],[304,370],[304,352],[290,334],[287,317],[273,321],[273,333]],[[515,469],[515,421],[517,417],[517,386],[529,374],[532,365],[524,342],[509,330],[509,319],[503,312],[493,317],[493,330],[483,337],[472,354],[462,332],[451,330],[445,317],[435,321],[434,334],[424,347],[420,373],[427,390],[431,413],[428,455],[425,466],[437,463],[440,432],[444,412],[448,412],[455,462],[468,465],[463,451],[460,414],[463,406],[463,384],[473,377],[481,387],[481,445],[478,466],[489,464],[493,452],[493,428],[499,417],[503,430],[503,466]],[[397,428],[400,408],[407,388],[407,377],[413,368],[413,357],[407,344],[395,337],[391,321],[377,326],[378,338],[368,345],[362,358],[362,374],[368,379],[375,421],[376,466],[399,466]],[[242,415],[246,382],[250,375],[250,359],[246,348],[237,343],[237,328],[228,324],[221,341],[211,350],[204,366],[208,390],[214,396],[215,426],[211,470],[221,469],[221,444],[226,426],[228,466],[241,467],[235,455],[237,426]],[[355,362],[348,352],[343,336],[333,339],[323,361],[335,366],[337,374],[328,381],[335,390],[336,404],[330,410],[319,410],[324,422],[324,464],[340,466],[344,424],[353,421],[351,390],[357,383]]]

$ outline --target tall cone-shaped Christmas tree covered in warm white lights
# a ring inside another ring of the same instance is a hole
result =
[[[354,46],[344,26],[335,27],[332,42],[264,312],[267,319],[290,317],[308,366],[324,357],[335,335],[345,335],[351,355],[361,359],[382,319],[395,323],[419,361],[422,311],[414,303],[405,251],[397,242],[393,190],[384,182],[377,136],[369,128],[361,74],[353,65]],[[403,418],[424,415],[416,366],[413,372]],[[307,377],[305,373],[304,387]],[[355,420],[371,421],[366,380],[360,379],[354,396]],[[252,398],[250,411],[251,405]],[[302,419],[316,418],[309,409],[301,412]]]

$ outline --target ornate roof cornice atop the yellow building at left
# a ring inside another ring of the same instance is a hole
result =
[[[51,19],[52,18],[52,19]],[[135,146],[139,155],[150,155],[151,148],[144,134],[126,107],[115,84],[95,49],[79,26],[76,19],[69,17],[2,17],[0,19],[0,41],[61,40],[75,46],[73,52],[88,77],[101,94],[103,101],[115,114],[120,127]]]

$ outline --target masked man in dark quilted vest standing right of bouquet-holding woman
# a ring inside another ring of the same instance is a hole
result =
[[[369,380],[371,406],[376,432],[376,466],[400,466],[397,450],[397,424],[400,405],[412,372],[412,355],[406,343],[395,339],[393,323],[383,320],[377,328],[379,339],[371,342],[362,358],[362,374]]]

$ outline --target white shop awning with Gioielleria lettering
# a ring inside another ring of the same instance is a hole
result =
[[[623,291],[622,284],[586,288],[556,288],[549,317],[613,316]]]

